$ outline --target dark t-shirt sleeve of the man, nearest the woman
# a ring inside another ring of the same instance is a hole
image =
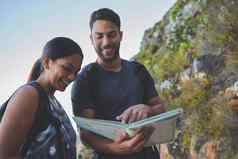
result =
[[[94,109],[92,92],[90,87],[90,67],[84,67],[77,75],[71,89],[71,101],[74,115],[80,115],[82,110],[91,108]]]

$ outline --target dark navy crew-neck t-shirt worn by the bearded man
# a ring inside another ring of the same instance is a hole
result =
[[[119,72],[106,71],[97,63],[85,66],[77,76],[71,92],[75,115],[80,115],[83,109],[91,108],[95,110],[97,118],[104,120],[116,120],[116,116],[130,106],[146,104],[157,95],[154,81],[146,68],[126,60],[122,60]],[[153,159],[151,148],[143,151],[123,157],[100,154],[99,158]]]

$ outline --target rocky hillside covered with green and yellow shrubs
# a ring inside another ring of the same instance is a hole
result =
[[[184,108],[165,159],[238,158],[238,1],[178,0],[134,57],[169,109]]]

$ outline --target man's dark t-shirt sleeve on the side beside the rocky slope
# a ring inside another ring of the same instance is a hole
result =
[[[143,100],[147,103],[151,98],[158,96],[158,93],[155,89],[155,83],[153,78],[151,77],[148,70],[144,65],[139,64],[140,68],[138,71],[139,78],[142,80],[143,89],[144,89],[144,97]]]

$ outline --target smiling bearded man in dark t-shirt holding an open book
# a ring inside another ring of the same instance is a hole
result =
[[[90,19],[92,45],[98,58],[78,75],[72,88],[75,115],[130,123],[165,111],[145,67],[120,58],[121,23],[117,13],[103,8]],[[140,129],[129,138],[119,132],[115,141],[82,131],[82,140],[89,143],[103,159],[158,159],[155,148],[144,147],[148,129]]]

